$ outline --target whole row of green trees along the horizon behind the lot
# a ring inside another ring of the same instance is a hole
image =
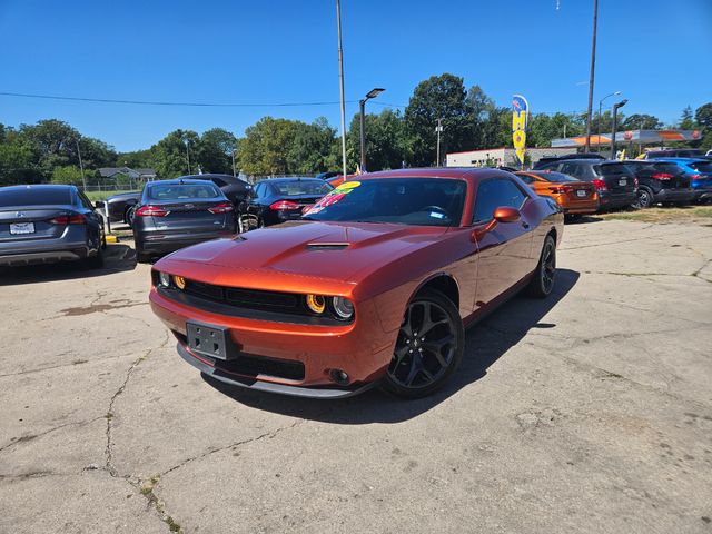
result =
[[[370,107],[377,101],[369,103]],[[463,78],[433,76],[413,91],[403,111],[385,108],[367,113],[368,170],[436,165],[436,131],[441,119],[441,154],[512,146],[512,110],[497,106],[479,86],[466,88]],[[663,125],[651,115],[619,113],[617,131],[656,129]],[[693,146],[712,148],[712,102],[694,112],[686,107],[676,126],[700,129]],[[612,117],[594,115],[592,132],[612,130]],[[533,113],[527,147],[548,147],[552,139],[585,132],[583,113]],[[346,135],[348,171],[359,161],[359,117]],[[240,138],[222,128],[198,135],[175,130],[146,150],[119,152],[106,142],[82,136],[56,119],[18,128],[0,123],[0,185],[40,181],[81,182],[79,158],[89,182],[99,179],[100,167],[152,168],[160,178],[186,174],[225,172],[236,168],[251,176],[303,175],[340,169],[342,148],[337,130],[320,117],[312,123],[264,117]],[[442,164],[442,161],[441,161]]]

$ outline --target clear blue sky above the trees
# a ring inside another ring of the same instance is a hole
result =
[[[557,9],[558,4],[558,9]],[[452,72],[503,106],[583,111],[592,0],[342,0],[346,99],[407,105]],[[199,102],[338,101],[334,0],[0,0],[0,91]],[[594,102],[675,121],[712,99],[712,0],[600,0]],[[611,103],[613,99],[609,99]],[[375,102],[370,111],[380,110]],[[594,103],[594,107],[596,103]],[[347,123],[357,111],[348,103]],[[338,105],[185,108],[0,96],[0,122],[59,118],[119,150],[265,115],[338,127]]]

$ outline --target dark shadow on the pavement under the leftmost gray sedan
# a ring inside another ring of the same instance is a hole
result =
[[[109,244],[105,250],[103,267],[100,269],[90,269],[80,261],[0,267],[0,286],[95,278],[134,270],[135,268],[136,251],[134,248],[123,244]]]

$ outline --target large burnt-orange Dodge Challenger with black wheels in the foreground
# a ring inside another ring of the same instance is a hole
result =
[[[179,355],[218,380],[421,397],[456,372],[464,327],[522,288],[552,291],[562,231],[558,207],[510,172],[373,172],[303,220],[166,256],[150,301]]]

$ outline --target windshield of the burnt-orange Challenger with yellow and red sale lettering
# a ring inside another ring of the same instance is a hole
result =
[[[345,181],[305,214],[313,220],[458,226],[467,184],[445,178]]]

